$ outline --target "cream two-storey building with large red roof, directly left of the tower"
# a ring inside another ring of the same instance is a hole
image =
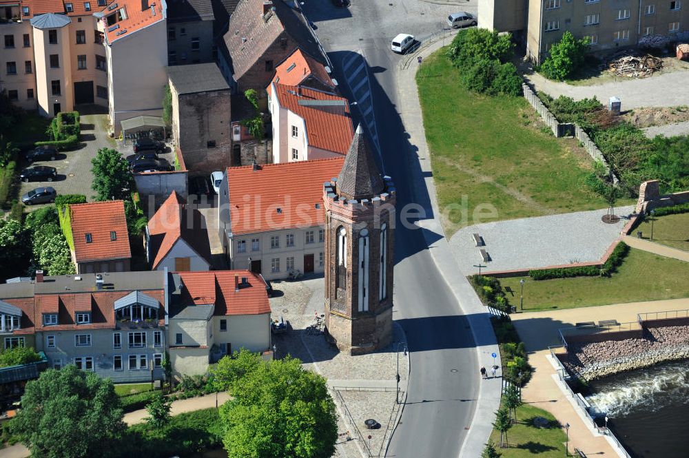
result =
[[[322,272],[325,212],[322,184],[345,158],[231,167],[218,196],[220,240],[232,269],[269,280],[289,272]]]

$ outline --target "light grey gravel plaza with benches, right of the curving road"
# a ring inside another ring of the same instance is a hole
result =
[[[486,271],[531,269],[574,262],[592,262],[604,255],[619,237],[626,216],[634,207],[619,207],[623,216],[617,224],[601,221],[607,209],[489,222],[464,227],[450,239],[450,247],[463,275],[477,272],[480,261]],[[478,233],[485,246],[476,247],[472,234]],[[479,249],[491,260],[483,262]]]

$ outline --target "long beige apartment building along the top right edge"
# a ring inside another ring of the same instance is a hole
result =
[[[479,26],[513,32],[526,55],[540,62],[565,31],[588,38],[591,52],[654,39],[689,39],[689,12],[681,0],[487,0]]]

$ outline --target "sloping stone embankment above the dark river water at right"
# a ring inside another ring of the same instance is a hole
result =
[[[562,363],[586,381],[689,359],[689,326],[644,329],[639,338],[569,344]]]

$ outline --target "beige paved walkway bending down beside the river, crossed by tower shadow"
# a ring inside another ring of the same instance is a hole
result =
[[[555,368],[546,359],[550,355],[548,346],[559,345],[557,330],[574,326],[582,321],[615,319],[620,323],[637,320],[637,313],[670,311],[689,308],[689,299],[659,300],[613,304],[582,309],[567,309],[552,312],[515,313],[513,323],[529,352],[529,362],[535,368],[533,379],[523,391],[524,401],[547,410],[561,424],[569,423],[570,451],[579,448],[588,456],[603,455],[616,457],[617,453],[605,437],[589,428],[570,404],[564,392],[555,381]]]

